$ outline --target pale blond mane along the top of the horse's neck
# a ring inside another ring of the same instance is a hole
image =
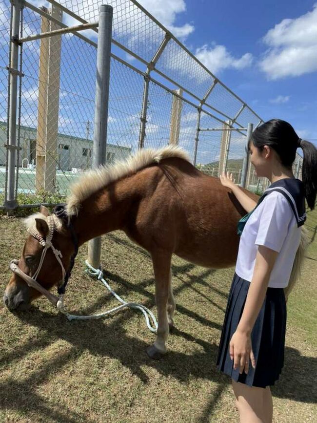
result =
[[[67,201],[67,214],[69,216],[78,214],[82,201],[111,182],[136,173],[153,163],[159,163],[168,157],[178,157],[190,161],[186,151],[176,146],[168,146],[156,150],[153,148],[141,149],[135,156],[130,156],[125,161],[117,162],[112,166],[100,166],[98,169],[85,172],[71,186],[71,194]]]

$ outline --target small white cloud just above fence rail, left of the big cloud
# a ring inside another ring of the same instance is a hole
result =
[[[216,44],[213,44],[210,48],[207,44],[204,44],[196,50],[195,55],[214,74],[228,68],[243,69],[250,66],[253,61],[251,53],[245,53],[240,58],[235,58],[224,45]]]

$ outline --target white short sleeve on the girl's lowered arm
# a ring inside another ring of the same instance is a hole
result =
[[[256,245],[280,252],[294,216],[289,202],[279,192],[272,192],[262,202]]]

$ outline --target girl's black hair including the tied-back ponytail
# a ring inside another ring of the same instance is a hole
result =
[[[280,119],[271,119],[257,127],[252,134],[253,145],[262,150],[264,146],[273,148],[281,164],[291,168],[298,147],[303,150],[302,180],[308,207],[315,208],[317,194],[317,148],[298,137],[292,125]]]

